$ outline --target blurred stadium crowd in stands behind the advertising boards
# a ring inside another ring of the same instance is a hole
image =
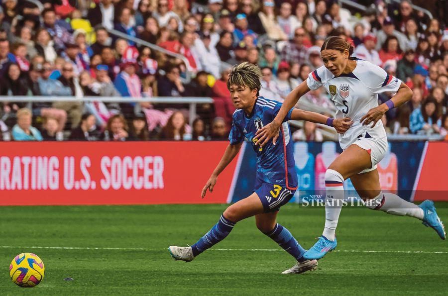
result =
[[[366,11],[330,0],[39,1],[42,11],[32,1],[0,0],[0,96],[211,97],[214,103],[199,105],[190,126],[188,104],[4,100],[0,140],[226,139],[234,111],[229,67],[257,64],[260,95],[281,101],[322,65],[320,48],[330,35],[349,40],[353,56],[413,89],[411,101],[383,116],[388,133],[447,135],[447,1],[426,1],[434,18],[410,0],[376,0]],[[188,65],[111,29],[181,54]],[[188,83],[187,72],[194,77]],[[335,109],[324,89],[302,100]],[[323,140],[308,122],[293,136]]]

